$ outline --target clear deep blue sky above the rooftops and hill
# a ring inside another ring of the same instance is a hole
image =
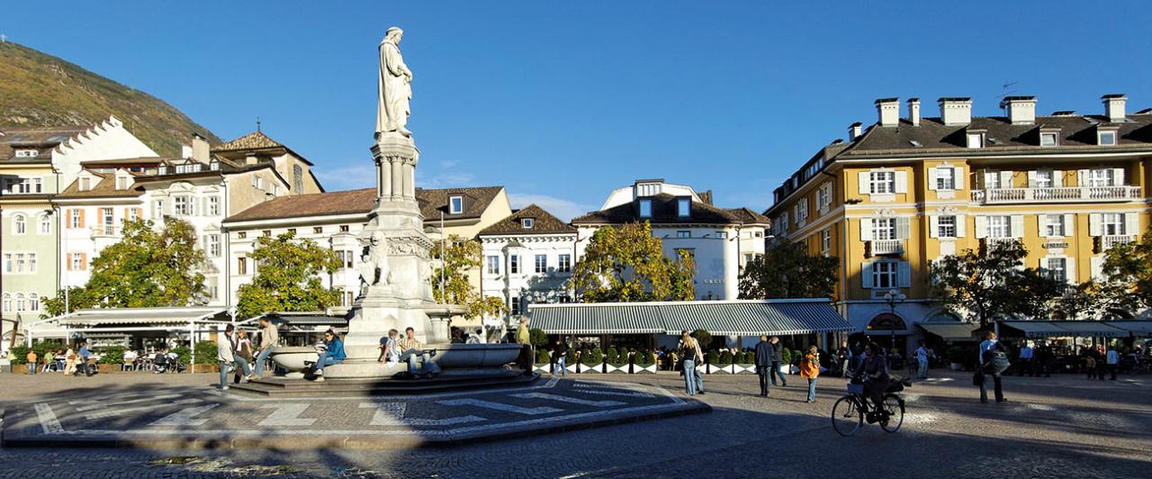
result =
[[[329,8],[331,6],[331,8]],[[1152,106],[1144,2],[16,2],[0,33],[145,90],[225,139],[255,129],[328,190],[371,185],[377,44],[415,71],[429,188],[502,184],[570,216],[641,177],[758,210],[872,101]]]

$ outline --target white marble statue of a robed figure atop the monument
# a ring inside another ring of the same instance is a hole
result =
[[[388,29],[380,41],[380,76],[377,81],[378,108],[376,115],[376,134],[395,131],[403,136],[412,136],[408,131],[408,115],[411,113],[408,100],[412,98],[412,70],[404,64],[400,54],[400,40],[404,31],[399,26]]]

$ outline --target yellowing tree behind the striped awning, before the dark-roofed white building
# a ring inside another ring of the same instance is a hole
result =
[[[696,266],[691,252],[664,256],[649,222],[604,227],[592,234],[573,269],[570,287],[585,303],[692,301]]]

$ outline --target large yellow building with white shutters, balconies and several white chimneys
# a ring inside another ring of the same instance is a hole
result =
[[[1034,97],[1007,97],[987,117],[968,98],[940,98],[939,117],[916,98],[903,115],[876,100],[876,123],[850,126],[774,191],[772,233],[840,258],[840,312],[897,349],[916,347],[916,325],[957,319],[931,298],[941,256],[1020,241],[1028,266],[1089,281],[1147,228],[1152,198],[1152,109],[1101,99],[1096,114],[1037,115]]]

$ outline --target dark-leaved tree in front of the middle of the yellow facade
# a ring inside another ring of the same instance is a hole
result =
[[[968,311],[980,326],[1013,315],[1044,318],[1066,290],[1038,268],[1022,267],[1028,250],[1020,242],[965,250],[932,263],[932,290],[953,311]]]

